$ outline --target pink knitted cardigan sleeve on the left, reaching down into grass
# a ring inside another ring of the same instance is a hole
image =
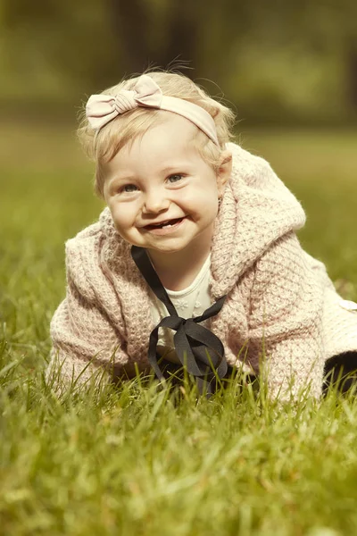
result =
[[[136,367],[129,360],[125,341],[100,309],[95,293],[84,283],[82,265],[67,251],[67,294],[54,313],[50,334],[53,347],[46,381],[54,391],[134,377]],[[74,268],[78,265],[78,269]],[[145,363],[138,364],[139,371]]]

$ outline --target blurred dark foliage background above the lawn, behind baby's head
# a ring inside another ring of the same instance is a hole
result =
[[[73,117],[173,62],[248,124],[357,123],[355,0],[1,0],[2,113]]]

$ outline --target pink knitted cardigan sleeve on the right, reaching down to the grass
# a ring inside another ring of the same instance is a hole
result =
[[[324,372],[323,287],[294,232],[275,241],[256,264],[250,344],[270,398],[321,395]]]

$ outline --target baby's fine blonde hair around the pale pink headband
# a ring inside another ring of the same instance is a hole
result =
[[[168,71],[145,72],[160,86],[163,95],[185,99],[201,106],[212,115],[220,147],[217,147],[198,127],[194,143],[203,160],[217,171],[220,165],[220,153],[225,148],[225,144],[233,137],[235,114],[228,107],[208,96],[202,88],[183,74]],[[138,77],[122,80],[116,86],[104,89],[103,93],[115,96],[121,89],[132,90],[137,79]],[[118,115],[104,125],[101,130],[96,131],[87,121],[86,110],[80,112],[78,137],[87,156],[95,162],[95,193],[99,197],[104,197],[103,164],[110,162],[122,147],[132,144],[136,138],[144,136],[154,123],[163,121],[162,117],[160,110],[139,106],[134,110]]]

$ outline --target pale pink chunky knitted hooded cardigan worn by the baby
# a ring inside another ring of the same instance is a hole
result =
[[[340,306],[324,264],[303,251],[300,203],[261,157],[235,144],[212,239],[210,329],[228,364],[262,373],[271,398],[310,387],[319,397],[328,357],[357,350],[357,314]],[[50,373],[87,381],[95,371],[147,368],[154,322],[149,288],[108,208],[66,243],[67,294],[51,322]],[[125,366],[124,366],[125,365]],[[56,369],[58,370],[58,369]]]

